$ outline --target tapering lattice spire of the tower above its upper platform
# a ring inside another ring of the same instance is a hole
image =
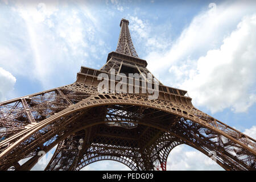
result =
[[[121,31],[115,52],[139,58],[133,46],[133,42],[131,41],[128,25],[129,21],[122,18],[120,22]]]

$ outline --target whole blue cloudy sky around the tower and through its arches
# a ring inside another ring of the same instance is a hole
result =
[[[256,138],[256,1],[0,0],[0,101],[71,84],[81,66],[101,68],[122,18],[155,77]],[[113,161],[83,168],[128,169]],[[170,152],[167,170],[223,169],[183,144]]]

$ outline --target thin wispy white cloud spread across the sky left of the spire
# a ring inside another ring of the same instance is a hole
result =
[[[7,21],[7,13],[0,16],[0,60],[9,64],[2,62],[0,67],[16,75],[29,73],[43,89],[75,81],[81,65],[93,65],[93,59],[106,55],[105,43],[96,36],[101,31],[97,17],[85,3],[79,5],[72,2],[67,8],[57,1],[32,1],[7,7],[12,19]]]

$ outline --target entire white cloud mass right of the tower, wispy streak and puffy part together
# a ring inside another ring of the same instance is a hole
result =
[[[254,3],[210,5],[168,51],[148,53],[148,69],[164,84],[188,90],[196,106],[245,112],[256,101]]]

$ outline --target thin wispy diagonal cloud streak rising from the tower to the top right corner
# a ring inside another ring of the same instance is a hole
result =
[[[235,2],[209,7],[208,11],[203,11],[193,18],[189,26],[181,32],[179,38],[172,42],[171,49],[164,55],[152,52],[147,56],[152,71],[170,68],[173,64],[185,64],[188,57],[197,59],[209,49],[220,46],[223,38],[244,15],[255,12],[255,7],[251,3]],[[156,64],[159,62],[154,59],[160,59],[162,64]],[[177,61],[179,63],[176,63]]]

